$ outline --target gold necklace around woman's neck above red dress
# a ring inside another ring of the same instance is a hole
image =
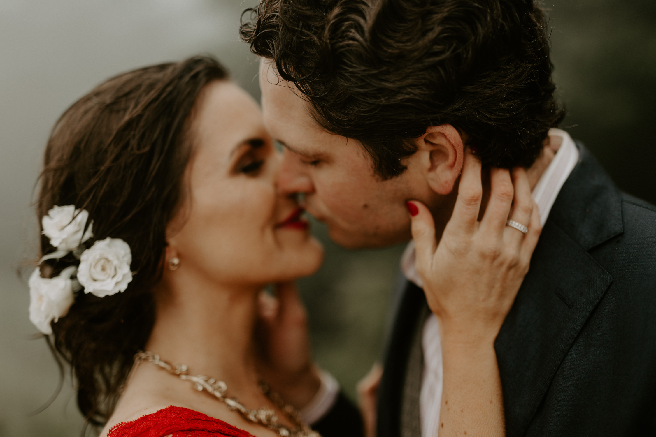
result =
[[[321,437],[321,435],[310,429],[308,424],[306,424],[301,418],[300,413],[291,405],[285,404],[283,399],[279,394],[270,389],[270,387],[260,381],[259,387],[262,393],[271,400],[278,408],[280,408],[285,415],[295,424],[294,428],[286,427],[277,423],[276,411],[270,408],[258,408],[258,409],[248,409],[241,402],[235,398],[230,398],[227,396],[228,385],[224,381],[217,381],[214,378],[207,377],[205,375],[196,375],[192,376],[187,373],[186,364],[176,364],[173,365],[169,362],[166,362],[159,358],[159,355],[154,354],[153,352],[144,352],[139,351],[134,355],[134,362],[138,363],[141,361],[152,362],[156,366],[168,371],[171,375],[176,375],[184,381],[190,381],[194,388],[198,391],[207,391],[209,394],[215,396],[216,399],[220,400],[231,410],[236,410],[242,417],[262,425],[270,430],[275,431],[280,437]]]

